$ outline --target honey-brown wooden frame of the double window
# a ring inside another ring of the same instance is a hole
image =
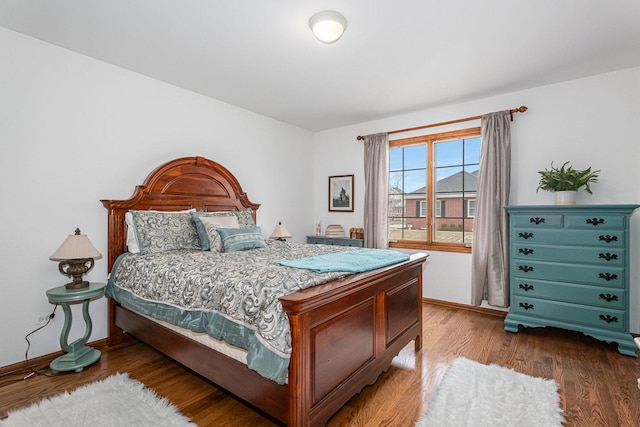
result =
[[[403,248],[403,249],[426,249],[426,250],[435,250],[435,251],[445,251],[445,252],[459,252],[459,253],[471,253],[472,244],[469,243],[451,243],[451,242],[435,242],[433,241],[433,233],[434,233],[434,219],[435,217],[435,209],[436,209],[436,200],[435,200],[435,144],[438,142],[446,142],[453,141],[457,139],[465,139],[472,137],[480,136],[480,127],[459,129],[448,132],[440,132],[436,134],[429,135],[421,135],[409,138],[395,139],[389,141],[389,149],[400,148],[400,147],[410,147],[413,145],[426,145],[427,152],[427,188],[426,193],[429,199],[425,199],[425,202],[431,201],[431,203],[426,203],[427,205],[427,240],[426,241],[418,241],[418,240],[405,240],[405,239],[397,239],[393,241],[389,241],[390,248]],[[468,200],[467,200],[468,202]],[[433,214],[432,211],[433,210]],[[466,215],[465,215],[466,217]],[[405,217],[406,218],[406,217]],[[475,218],[474,216],[470,218]],[[388,232],[388,230],[387,230]]]

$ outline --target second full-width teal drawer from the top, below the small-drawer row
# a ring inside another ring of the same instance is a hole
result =
[[[576,262],[615,266],[623,266],[626,262],[624,248],[515,243],[511,246],[511,251],[512,258],[524,260]]]

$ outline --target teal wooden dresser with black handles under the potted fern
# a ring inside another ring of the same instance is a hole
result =
[[[511,308],[504,329],[580,331],[637,357],[629,331],[629,217],[638,207],[505,206]]]

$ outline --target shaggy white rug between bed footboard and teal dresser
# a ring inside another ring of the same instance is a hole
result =
[[[416,426],[555,427],[563,422],[555,381],[459,357]]]

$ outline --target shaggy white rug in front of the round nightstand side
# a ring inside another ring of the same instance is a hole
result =
[[[144,384],[127,374],[116,374],[71,393],[65,391],[28,408],[10,411],[0,426],[194,427],[195,424]]]

